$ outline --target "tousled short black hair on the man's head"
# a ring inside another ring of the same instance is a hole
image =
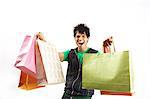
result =
[[[74,27],[74,37],[76,36],[77,32],[81,34],[86,34],[87,37],[90,37],[90,29],[85,24],[78,24],[76,27]]]

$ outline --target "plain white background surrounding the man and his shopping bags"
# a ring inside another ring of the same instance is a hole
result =
[[[73,27],[86,23],[89,46],[100,50],[112,35],[117,51],[130,50],[135,95],[93,99],[150,98],[150,0],[0,0],[0,99],[61,99],[64,84],[32,91],[17,88],[20,71],[13,65],[26,34],[43,32],[58,51],[76,47]],[[67,64],[62,63],[64,75]]]

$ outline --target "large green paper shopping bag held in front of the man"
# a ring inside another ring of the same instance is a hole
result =
[[[133,79],[129,51],[84,54],[82,87],[111,92],[132,92]]]

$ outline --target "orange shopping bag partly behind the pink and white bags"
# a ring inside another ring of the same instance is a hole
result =
[[[42,62],[42,57],[39,51],[39,45],[36,41],[35,43],[35,58],[36,58],[36,78],[26,74],[21,71],[20,81],[18,87],[24,90],[32,90],[41,87],[45,87],[47,85],[47,78],[45,75],[44,65]]]

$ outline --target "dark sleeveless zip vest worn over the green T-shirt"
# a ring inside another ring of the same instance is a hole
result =
[[[66,76],[65,92],[70,95],[92,96],[94,90],[82,89],[82,64],[75,53],[76,49],[71,49],[68,55],[68,69]],[[87,53],[97,53],[97,50],[90,48]]]

